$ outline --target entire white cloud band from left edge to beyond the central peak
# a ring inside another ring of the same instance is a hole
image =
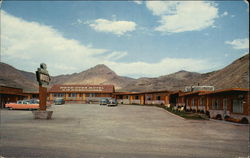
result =
[[[159,62],[118,62],[126,51],[94,48],[67,39],[56,29],[28,22],[1,11],[2,61],[18,69],[34,72],[45,62],[51,75],[74,73],[97,64],[106,64],[124,76],[156,77],[185,69],[204,71],[211,63],[200,59],[163,58]]]

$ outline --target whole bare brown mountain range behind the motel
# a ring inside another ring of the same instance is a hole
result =
[[[249,88],[249,54],[235,60],[225,68],[209,73],[196,73],[181,70],[179,72],[156,78],[139,78],[118,76],[106,65],[96,65],[80,73],[52,76],[50,85],[54,84],[113,84],[116,91],[157,91],[184,90],[185,86],[206,85],[215,89]],[[34,73],[17,70],[0,63],[0,85],[23,88],[26,91],[37,90]]]

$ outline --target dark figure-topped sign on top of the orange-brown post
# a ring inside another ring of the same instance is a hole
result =
[[[40,64],[40,68],[37,68],[36,79],[40,86],[47,87],[50,82],[49,72],[47,71],[47,66],[44,63]]]

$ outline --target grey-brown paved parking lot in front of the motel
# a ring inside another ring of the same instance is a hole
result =
[[[87,158],[247,157],[246,125],[184,120],[148,106],[52,106],[52,120],[1,111],[0,156]]]

